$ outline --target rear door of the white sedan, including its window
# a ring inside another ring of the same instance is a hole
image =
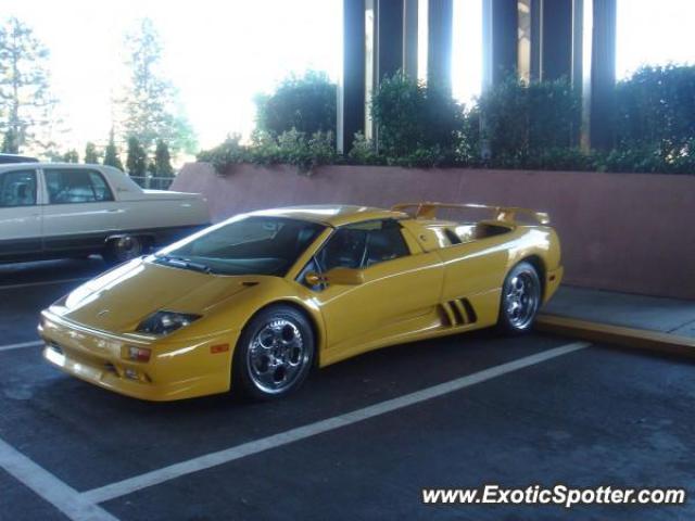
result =
[[[121,209],[97,169],[45,167],[48,201],[43,206],[47,252],[97,251],[118,230]]]

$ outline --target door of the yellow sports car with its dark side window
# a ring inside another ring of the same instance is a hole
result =
[[[323,274],[343,267],[362,270],[364,278],[357,285],[329,283],[317,291],[328,358],[351,356],[412,332],[431,315],[441,295],[441,259],[412,252],[393,219],[339,228],[314,263]]]

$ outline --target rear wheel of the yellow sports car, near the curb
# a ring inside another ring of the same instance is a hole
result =
[[[511,334],[531,329],[541,305],[541,279],[529,263],[519,263],[507,275],[502,287],[498,325]]]

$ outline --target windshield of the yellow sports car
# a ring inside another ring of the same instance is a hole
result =
[[[324,228],[305,220],[250,216],[165,247],[154,262],[219,275],[282,277]]]

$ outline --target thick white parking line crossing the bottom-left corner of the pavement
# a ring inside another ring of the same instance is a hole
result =
[[[0,467],[73,521],[118,521],[2,440]]]

